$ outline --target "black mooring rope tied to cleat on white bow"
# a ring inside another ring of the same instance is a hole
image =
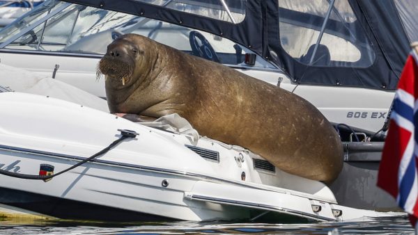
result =
[[[0,175],[7,175],[9,177],[15,177],[15,178],[20,178],[20,179],[41,179],[41,180],[52,179],[53,177],[56,177],[57,175],[61,175],[65,172],[68,172],[69,170],[77,168],[78,166],[80,166],[80,165],[82,165],[82,164],[84,164],[88,161],[91,161],[91,160],[95,159],[96,157],[98,157],[102,154],[105,154],[105,153],[109,152],[109,150],[112,147],[115,147],[116,145],[118,145],[118,143],[121,143],[126,138],[134,138],[137,135],[137,133],[135,133],[134,131],[125,131],[125,130],[119,130],[119,131],[122,132],[121,138],[118,138],[113,143],[111,143],[109,146],[100,150],[100,152],[97,152],[93,156],[90,156],[87,159],[84,159],[83,161],[80,161],[79,163],[70,166],[70,168],[62,170],[62,171],[60,171],[60,172],[58,172],[54,175],[28,175],[28,174],[21,174],[21,173],[17,173],[17,172],[9,172],[7,170],[0,170]]]

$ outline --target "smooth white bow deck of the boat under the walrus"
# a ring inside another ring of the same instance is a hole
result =
[[[204,159],[173,136],[115,115],[52,97],[0,92],[2,145],[72,156],[91,156],[120,136],[118,129],[139,133],[100,159],[215,176]],[[28,118],[28,117],[31,118]]]

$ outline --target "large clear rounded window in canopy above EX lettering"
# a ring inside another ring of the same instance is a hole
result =
[[[348,0],[278,0],[281,47],[320,67],[369,67],[375,54]]]

